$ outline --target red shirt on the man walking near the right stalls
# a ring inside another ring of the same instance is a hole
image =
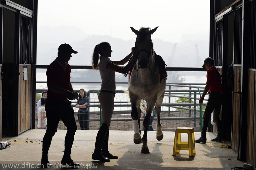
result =
[[[206,78],[206,84],[210,84],[208,91],[222,92],[221,76],[214,66],[207,70]]]

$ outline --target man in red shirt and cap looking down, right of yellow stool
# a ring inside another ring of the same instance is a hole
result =
[[[211,117],[213,111],[213,119],[216,122],[217,127],[217,137],[211,139],[211,141],[223,142],[223,131],[222,123],[220,120],[220,107],[222,103],[222,85],[221,85],[221,76],[216,67],[214,66],[214,60],[210,57],[205,58],[204,65],[202,66],[207,69],[207,81],[204,88],[204,93],[199,99],[199,103],[202,104],[206,93],[208,92],[209,98],[206,104],[204,115],[203,115],[203,125],[201,137],[195,142],[197,143],[206,143],[206,130],[208,127],[209,118]]]

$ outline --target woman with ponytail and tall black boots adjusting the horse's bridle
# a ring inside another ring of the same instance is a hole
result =
[[[137,59],[137,54],[135,54],[135,47],[132,47],[132,52],[120,61],[110,60],[111,53],[112,50],[110,44],[104,42],[95,46],[92,56],[92,68],[94,70],[100,70],[100,77],[102,80],[99,93],[102,125],[96,136],[95,149],[92,154],[92,159],[100,160],[102,162],[109,162],[109,159],[118,158],[108,151],[109,126],[114,111],[114,98],[116,94],[115,72],[123,74],[127,73],[132,67],[132,64]],[[132,60],[125,67],[120,67],[120,65],[124,65],[131,57]]]

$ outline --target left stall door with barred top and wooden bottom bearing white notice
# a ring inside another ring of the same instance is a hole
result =
[[[30,129],[32,16],[20,12],[18,134]]]

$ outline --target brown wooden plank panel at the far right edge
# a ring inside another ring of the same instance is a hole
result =
[[[248,73],[248,105],[247,105],[247,139],[246,139],[246,160],[252,165],[256,164],[256,73]]]

